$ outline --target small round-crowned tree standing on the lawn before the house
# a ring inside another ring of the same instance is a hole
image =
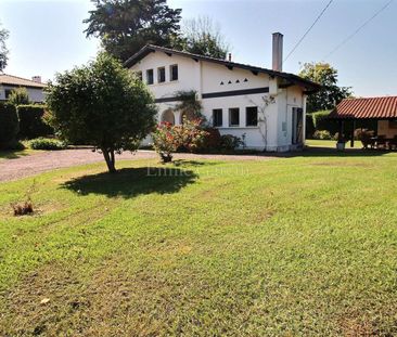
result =
[[[46,101],[60,138],[94,146],[110,172],[116,171],[115,153],[136,151],[155,126],[156,108],[146,87],[107,53],[57,74]]]

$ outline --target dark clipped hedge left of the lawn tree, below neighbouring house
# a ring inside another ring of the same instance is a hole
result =
[[[54,133],[43,119],[46,111],[43,105],[20,105],[20,138],[33,139]]]

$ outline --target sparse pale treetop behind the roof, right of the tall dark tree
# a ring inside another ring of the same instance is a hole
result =
[[[226,59],[230,49],[219,27],[207,16],[185,21],[180,40],[184,51],[216,59]]]

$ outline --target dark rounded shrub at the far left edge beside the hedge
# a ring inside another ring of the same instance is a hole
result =
[[[0,102],[0,147],[10,148],[15,144],[20,120],[14,105]]]

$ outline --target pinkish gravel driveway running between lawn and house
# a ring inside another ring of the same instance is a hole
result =
[[[152,151],[125,152],[116,156],[116,165],[123,159],[152,159],[157,154]],[[195,155],[176,154],[175,159],[218,159],[218,160],[264,160],[267,156],[257,155]],[[102,154],[91,150],[49,151],[15,159],[0,160],[0,181],[16,180],[59,168],[103,161]]]

